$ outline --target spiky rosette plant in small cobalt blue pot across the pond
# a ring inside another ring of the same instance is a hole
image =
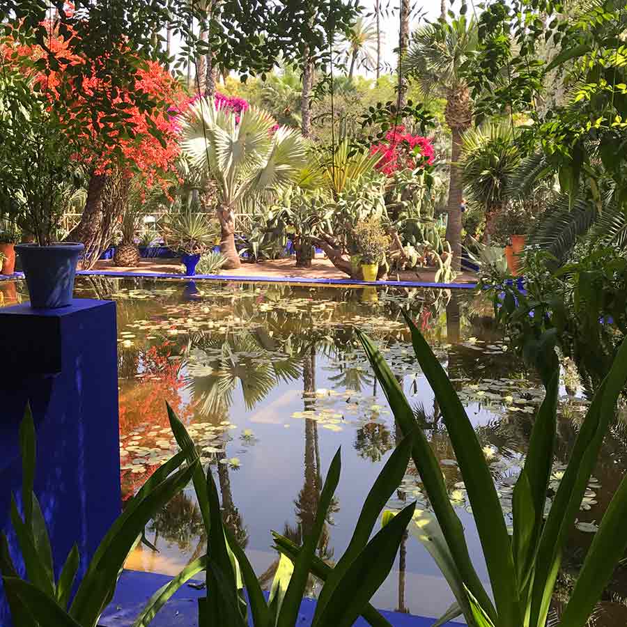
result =
[[[213,248],[217,233],[219,224],[215,219],[209,219],[192,209],[169,215],[163,226],[164,241],[172,250],[180,253],[187,277],[196,274],[201,255]]]

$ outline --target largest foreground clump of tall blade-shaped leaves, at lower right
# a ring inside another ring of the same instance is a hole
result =
[[[447,619],[464,614],[474,627],[545,627],[552,592],[568,535],[573,529],[603,436],[614,416],[617,398],[627,382],[627,342],[594,395],[582,423],[547,518],[543,516],[555,446],[559,366],[555,350],[539,351],[539,370],[546,396],[536,415],[529,450],[513,490],[513,534],[506,522],[490,468],[470,419],[437,357],[416,325],[410,326],[417,361],[437,399],[468,493],[488,566],[494,603],[477,576],[444,481],[442,470],[419,428],[401,386],[376,346],[363,333],[359,339],[385,391],[403,433],[416,433],[412,458],[424,483],[435,518],[419,534],[427,543],[456,596]],[[568,605],[562,627],[584,627],[614,568],[627,548],[627,478],[621,482],[603,516]],[[389,520],[389,516],[385,519]],[[437,523],[435,520],[437,519]],[[412,523],[412,525],[415,523]],[[412,528],[410,525],[410,528]]]

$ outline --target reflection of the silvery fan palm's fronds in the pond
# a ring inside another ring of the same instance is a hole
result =
[[[233,334],[225,340],[202,336],[193,346],[187,385],[204,414],[228,412],[238,381],[246,408],[251,410],[279,381],[300,375],[295,357],[275,359],[263,348],[260,337],[251,333]]]

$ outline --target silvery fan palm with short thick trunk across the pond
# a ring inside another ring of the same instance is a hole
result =
[[[217,218],[222,237],[224,268],[239,268],[235,249],[235,214],[251,196],[285,187],[306,163],[300,134],[279,126],[274,118],[251,107],[236,119],[200,98],[181,116],[183,150],[192,165],[208,171],[217,183]]]

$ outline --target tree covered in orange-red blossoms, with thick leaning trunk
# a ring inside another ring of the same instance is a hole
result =
[[[76,54],[73,33],[62,36],[54,22],[42,26],[54,56],[39,45],[25,45],[14,31],[0,41],[1,61],[29,79],[33,97],[47,102],[73,160],[86,173],[86,206],[69,239],[84,242],[86,265],[92,265],[109,245],[125,206],[119,194],[127,192],[131,176],[141,176],[147,186],[160,181],[165,186],[179,155],[168,108],[178,107],[185,94],[162,65],[132,54],[126,57],[127,85],[118,87],[114,77],[98,72],[98,60]],[[107,187],[112,177],[117,183]]]

